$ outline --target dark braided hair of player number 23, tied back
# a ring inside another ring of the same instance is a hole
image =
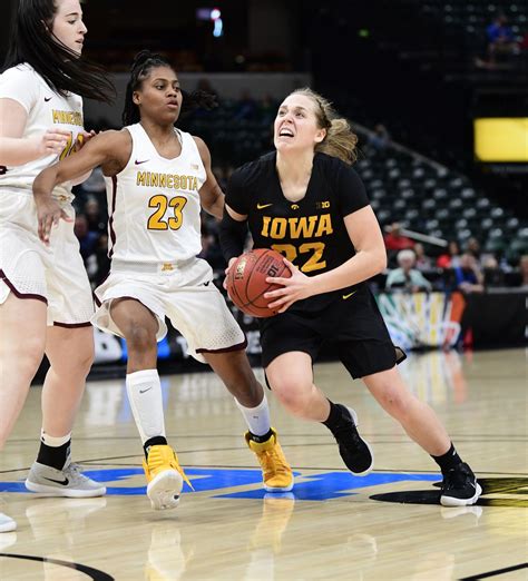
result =
[[[170,65],[163,55],[150,52],[149,50],[141,50],[136,55],[130,69],[130,79],[125,96],[125,108],[123,109],[121,116],[123,125],[134,125],[139,122],[139,108],[134,102],[134,91],[137,91],[141,87],[143,81],[150,75],[150,71],[158,67],[168,67],[169,69],[175,70],[173,65]],[[182,91],[182,96],[183,102],[179,114],[180,118],[198,107],[203,109],[213,109],[217,105],[215,96],[206,91],[198,90],[193,91],[192,93]]]

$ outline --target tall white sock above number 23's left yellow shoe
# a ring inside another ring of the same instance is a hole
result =
[[[141,443],[154,436],[165,437],[162,384],[157,370],[129,373],[126,380],[128,402]]]

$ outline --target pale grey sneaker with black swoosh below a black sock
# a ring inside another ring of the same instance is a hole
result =
[[[26,488],[47,496],[70,499],[102,496],[106,493],[106,488],[81,474],[80,466],[72,464],[69,456],[62,470],[33,462],[26,480]]]

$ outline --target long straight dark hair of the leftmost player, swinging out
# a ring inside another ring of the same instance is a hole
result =
[[[19,0],[2,72],[28,62],[55,92],[110,102],[116,91],[104,70],[68,49],[51,32],[56,12],[53,0]]]

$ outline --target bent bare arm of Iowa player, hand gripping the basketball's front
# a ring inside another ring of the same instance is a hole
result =
[[[355,255],[338,268],[316,276],[306,276],[296,266],[284,258],[292,272],[291,278],[270,277],[268,283],[283,285],[272,290],[265,298],[275,298],[270,308],[286,311],[293,303],[309,296],[346,288],[366,280],[387,267],[387,252],[380,225],[371,206],[365,206],[344,218],[346,232],[355,248]]]

